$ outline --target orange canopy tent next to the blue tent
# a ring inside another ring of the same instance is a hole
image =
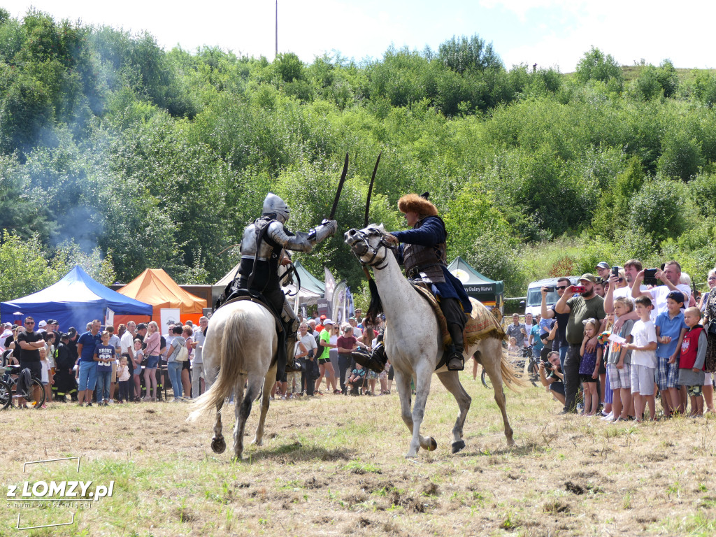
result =
[[[153,306],[152,318],[160,320],[160,309],[178,308],[179,318],[183,323],[192,321],[199,324],[203,308],[206,307],[206,300],[184,291],[176,282],[171,279],[162,269],[147,269],[129,284],[117,290],[132,299],[141,300]],[[142,297],[141,299],[138,297]],[[137,323],[149,321],[149,317],[115,315],[115,326],[120,323],[127,324],[127,321]]]

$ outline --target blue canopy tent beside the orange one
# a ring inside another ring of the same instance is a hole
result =
[[[47,289],[8,302],[0,303],[0,319],[14,322],[18,317],[34,317],[35,321],[55,319],[59,329],[70,326],[84,332],[92,319],[104,319],[107,308],[115,314],[151,315],[152,306],[112,291],[92,279],[82,267],[75,266],[64,278]],[[21,315],[16,315],[21,313]]]

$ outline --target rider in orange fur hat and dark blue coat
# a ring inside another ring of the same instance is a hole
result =
[[[437,216],[437,208],[427,199],[427,193],[404,195],[398,200],[398,209],[412,228],[391,233],[400,243],[398,262],[405,266],[408,279],[422,281],[437,298],[453,339],[446,365],[450,371],[462,371],[465,369],[463,331],[473,306],[463,283],[448,271],[445,222]],[[382,345],[376,347],[370,361],[385,365]]]

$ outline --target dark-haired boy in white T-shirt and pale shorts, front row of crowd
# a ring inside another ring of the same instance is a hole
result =
[[[632,397],[637,423],[644,417],[644,408],[649,405],[649,419],[654,420],[654,373],[657,370],[657,333],[651,319],[652,299],[639,296],[636,303],[639,320],[632,327],[632,342],[624,347],[632,352]]]

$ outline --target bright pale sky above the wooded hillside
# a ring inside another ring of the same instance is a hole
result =
[[[11,16],[29,6],[55,19],[147,31],[165,49],[218,46],[274,58],[276,0],[0,0]],[[574,71],[594,46],[622,65],[644,59],[714,68],[716,3],[684,0],[279,0],[279,52],[380,59],[391,46],[437,50],[455,36],[492,42],[505,67]]]

